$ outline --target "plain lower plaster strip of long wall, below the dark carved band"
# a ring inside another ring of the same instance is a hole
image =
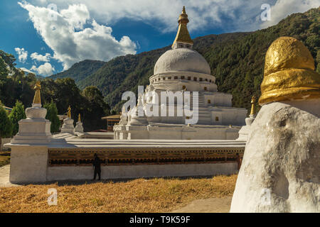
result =
[[[102,179],[139,177],[186,177],[230,175],[238,172],[238,164],[209,163],[188,165],[122,165],[102,166]],[[48,167],[48,180],[93,179],[93,167]]]

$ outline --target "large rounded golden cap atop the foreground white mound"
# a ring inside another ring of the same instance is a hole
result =
[[[320,74],[304,44],[291,37],[275,40],[265,56],[265,76],[259,104],[320,98]]]

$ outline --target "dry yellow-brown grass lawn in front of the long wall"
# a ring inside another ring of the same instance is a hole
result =
[[[0,188],[0,212],[168,212],[195,199],[231,196],[236,179],[232,175]],[[49,188],[57,189],[58,206],[48,206]]]

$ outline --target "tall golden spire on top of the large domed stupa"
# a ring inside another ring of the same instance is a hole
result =
[[[176,34],[176,39],[174,40],[174,43],[172,44],[172,48],[175,48],[176,43],[190,43],[193,44],[193,40],[190,37],[190,34],[188,32],[187,23],[189,23],[188,15],[186,14],[186,8],[183,6],[182,13],[179,16],[179,28],[178,33]]]

